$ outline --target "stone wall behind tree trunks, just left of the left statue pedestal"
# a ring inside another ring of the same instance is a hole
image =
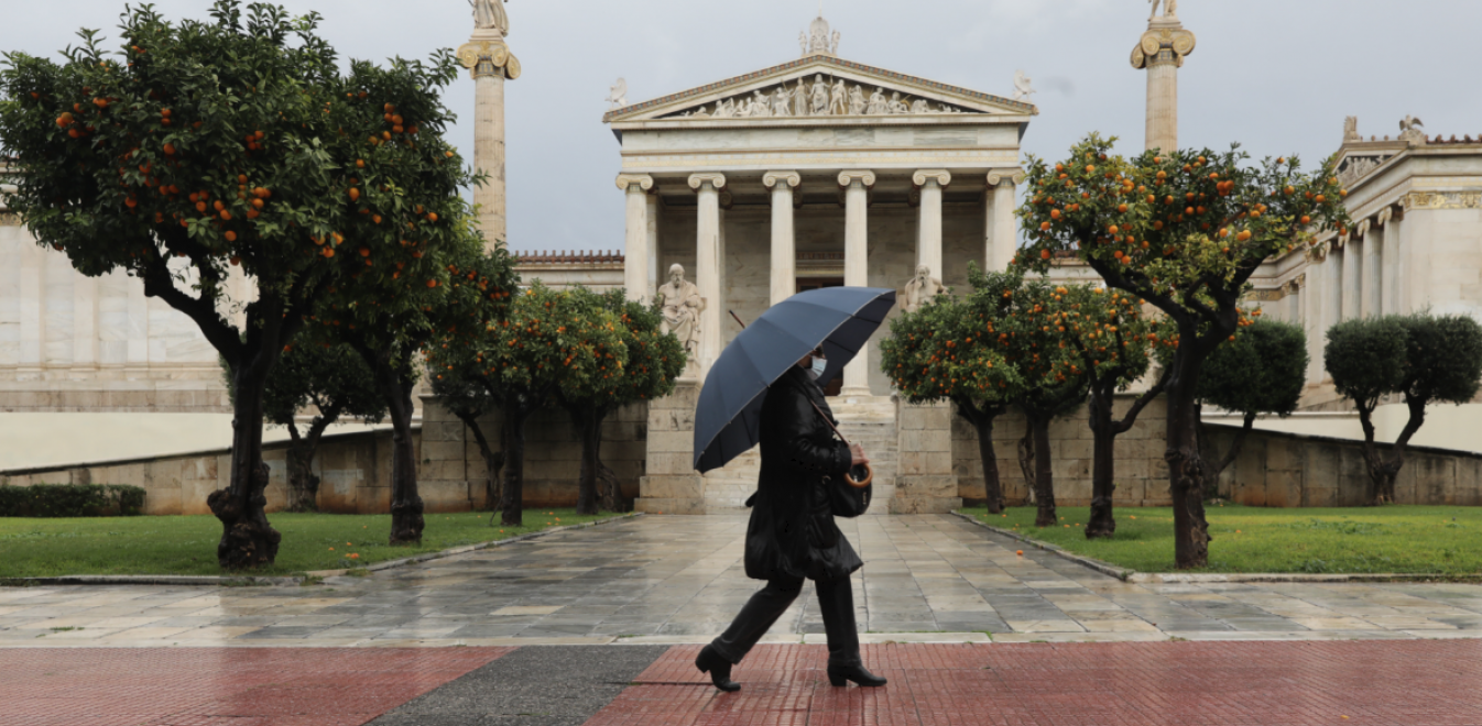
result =
[[[498,450],[504,415],[485,416],[480,428]],[[618,409],[602,424],[602,462],[618,477],[628,498],[639,495],[646,436],[646,404]],[[422,397],[421,442],[418,487],[422,501],[428,507],[434,502],[464,510],[483,507],[489,470],[479,452],[477,437],[433,396]],[[575,507],[579,476],[581,437],[571,418],[557,407],[535,412],[525,424],[525,505]]]

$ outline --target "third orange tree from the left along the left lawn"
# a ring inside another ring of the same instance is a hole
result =
[[[445,330],[433,341],[428,367],[434,391],[477,385],[504,413],[502,523],[523,522],[525,422],[563,385],[579,390],[587,385],[582,381],[622,375],[627,348],[621,324],[591,295],[535,282],[516,293],[496,320]]]

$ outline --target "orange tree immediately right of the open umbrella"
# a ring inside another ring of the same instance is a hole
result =
[[[999,350],[994,322],[966,301],[938,295],[891,320],[880,367],[910,403],[951,402],[978,434],[988,511],[1003,511],[993,422],[1020,394],[1023,378]]]

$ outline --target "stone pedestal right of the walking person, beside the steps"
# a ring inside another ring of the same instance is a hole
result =
[[[951,471],[951,403],[901,403],[900,471],[891,514],[946,514],[962,507]]]

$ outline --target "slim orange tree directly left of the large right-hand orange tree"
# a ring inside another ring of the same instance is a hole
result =
[[[1159,339],[1157,326],[1143,314],[1134,296],[1091,284],[1070,284],[1055,289],[1064,298],[1057,329],[1063,330],[1076,362],[1073,373],[1082,373],[1091,388],[1091,519],[1086,538],[1109,538],[1116,533],[1112,496],[1116,492],[1116,437],[1137,424],[1137,416],[1168,385],[1159,375],[1132,406],[1116,418],[1113,404],[1117,391],[1126,391],[1152,364],[1150,354]],[[1166,372],[1166,369],[1163,369]]]

